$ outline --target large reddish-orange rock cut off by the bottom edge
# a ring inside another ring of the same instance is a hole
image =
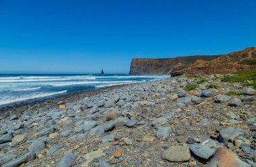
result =
[[[214,157],[210,160],[207,167],[251,167],[251,165],[243,162],[236,154],[225,147],[219,147],[214,154]]]

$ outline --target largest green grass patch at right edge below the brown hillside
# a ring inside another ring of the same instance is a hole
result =
[[[244,82],[245,80],[249,80],[251,82]],[[256,71],[240,71],[237,73],[234,73],[234,75],[228,75],[225,77],[222,77],[222,81],[226,82],[243,82],[243,84],[247,86],[253,86],[256,88]]]

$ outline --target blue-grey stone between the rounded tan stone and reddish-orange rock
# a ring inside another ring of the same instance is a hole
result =
[[[195,156],[203,158],[204,160],[208,160],[215,153],[214,149],[201,144],[190,145],[189,149]]]

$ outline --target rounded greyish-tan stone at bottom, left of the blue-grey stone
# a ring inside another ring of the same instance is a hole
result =
[[[174,145],[163,152],[162,158],[170,162],[188,162],[191,154],[188,146]]]

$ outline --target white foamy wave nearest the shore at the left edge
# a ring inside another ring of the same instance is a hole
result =
[[[26,96],[26,97],[23,97],[23,98],[15,98],[15,99],[7,99],[7,100],[1,100],[0,101],[0,105],[3,105],[3,104],[9,104],[9,103],[13,103],[13,102],[22,102],[24,100],[31,100],[31,99],[34,99],[34,98],[44,98],[46,96],[53,96],[55,94],[64,94],[66,93],[67,90],[63,90],[63,91],[60,91],[60,92],[49,92],[49,93],[41,93],[41,94],[32,94],[31,96]]]

